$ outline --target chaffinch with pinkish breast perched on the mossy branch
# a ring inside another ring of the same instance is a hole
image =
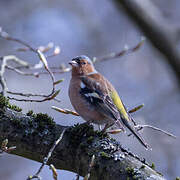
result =
[[[149,145],[138,133],[135,122],[128,113],[114,86],[94,67],[85,55],[73,58],[69,84],[69,98],[76,112],[88,123],[105,125],[102,132],[113,125],[120,130],[128,128],[146,148]]]

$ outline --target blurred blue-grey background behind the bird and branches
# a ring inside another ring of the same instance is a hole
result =
[[[180,24],[180,1],[153,2],[162,11],[167,22]],[[46,45],[50,41],[59,45],[61,53],[49,59],[51,66],[68,66],[71,58],[81,54],[92,58],[119,52],[125,45],[135,46],[143,36],[123,9],[119,10],[113,1],[108,0],[1,0],[0,26],[34,47]],[[0,56],[14,54],[31,64],[39,61],[31,52],[16,52],[17,47],[20,46],[14,42],[0,39]],[[126,134],[114,136],[150,164],[154,163],[156,170],[167,179],[175,179],[180,176],[180,89],[173,71],[163,58],[147,39],[138,51],[121,58],[97,62],[95,67],[114,84],[129,109],[145,104],[143,109],[133,115],[138,123],[160,127],[177,136],[174,140],[157,131],[144,129],[143,136],[152,146],[152,151],[146,151],[135,138],[127,137]],[[65,79],[58,85],[61,89],[58,95],[61,103],[13,103],[22,107],[24,113],[30,109],[48,113],[61,125],[82,123],[81,118],[63,115],[51,109],[52,105],[72,109],[68,98],[70,72],[55,76],[57,80]],[[51,89],[48,75],[39,78],[23,77],[6,71],[5,77],[11,91],[48,93]],[[4,154],[0,157],[0,179],[26,179],[39,166],[40,163],[35,161]],[[43,180],[52,179],[48,167],[43,169],[41,176]],[[59,179],[76,178],[74,173],[64,170],[58,170],[58,176]]]

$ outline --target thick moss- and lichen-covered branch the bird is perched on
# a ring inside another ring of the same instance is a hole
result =
[[[8,138],[8,146],[16,146],[10,153],[43,162],[53,143],[67,127],[55,124],[48,115],[32,112],[25,115],[5,105],[1,98],[0,143]],[[48,164],[85,176],[93,155],[96,158],[91,168],[91,180],[164,180],[144,160],[87,124],[68,127]]]

